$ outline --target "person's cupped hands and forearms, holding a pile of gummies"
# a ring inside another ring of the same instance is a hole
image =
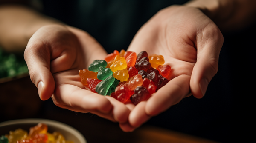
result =
[[[86,31],[23,6],[3,5],[0,44],[6,51],[25,50],[29,74],[41,100],[51,97],[61,108],[97,114],[131,132],[184,97],[204,97],[218,71],[224,40],[221,31],[253,23],[255,7],[256,2],[250,0],[192,0],[158,11],[140,28],[127,50],[163,55],[172,73],[166,86],[137,106],[85,90],[79,69],[107,55]]]

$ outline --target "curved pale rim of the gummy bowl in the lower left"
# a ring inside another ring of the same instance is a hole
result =
[[[0,127],[1,126],[12,125],[12,124],[19,124],[19,123],[46,123],[47,125],[56,126],[56,127],[65,129],[65,130],[69,131],[72,134],[76,134],[76,137],[81,141],[81,143],[87,143],[83,134],[81,134],[77,129],[75,129],[72,126],[69,126],[65,123],[61,123],[61,122],[58,122],[58,121],[55,121],[55,120],[39,119],[39,118],[9,120],[9,121],[1,122]]]

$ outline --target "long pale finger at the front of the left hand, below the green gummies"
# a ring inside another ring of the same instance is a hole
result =
[[[58,86],[52,98],[55,103],[58,103],[57,106],[65,106],[76,112],[96,113],[99,111],[109,114],[113,108],[111,102],[104,96],[70,84]]]

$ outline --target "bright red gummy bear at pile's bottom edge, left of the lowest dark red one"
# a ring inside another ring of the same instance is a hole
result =
[[[121,85],[117,86],[115,90],[116,98],[122,103],[125,103],[132,94],[134,94],[134,91],[129,90],[126,86]]]

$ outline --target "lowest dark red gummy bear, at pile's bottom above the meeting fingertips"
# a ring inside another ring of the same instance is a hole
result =
[[[134,105],[137,105],[140,101],[145,100],[149,95],[150,93],[148,92],[148,89],[144,86],[138,86],[134,89],[134,94],[131,96],[130,100]]]

